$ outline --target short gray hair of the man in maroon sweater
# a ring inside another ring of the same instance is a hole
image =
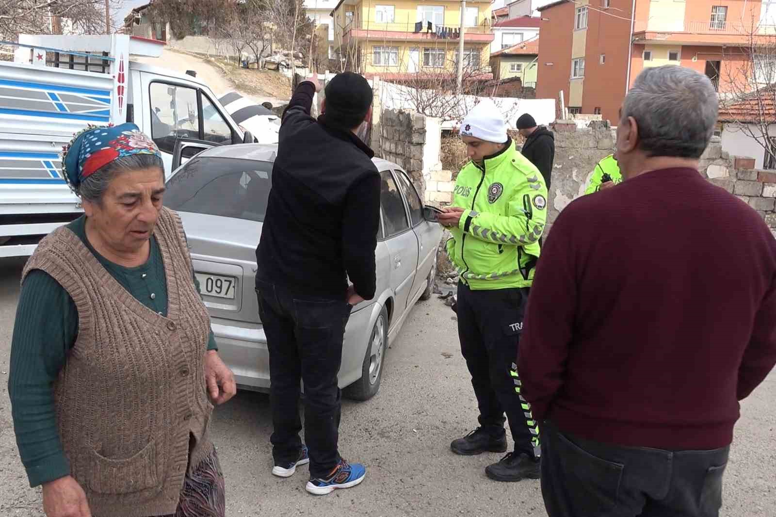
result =
[[[714,134],[719,99],[711,80],[690,68],[646,68],[625,97],[622,120],[639,126],[649,156],[700,158]]]

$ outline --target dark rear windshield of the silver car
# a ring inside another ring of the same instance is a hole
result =
[[[167,182],[165,206],[262,222],[272,186],[272,162],[194,158]]]

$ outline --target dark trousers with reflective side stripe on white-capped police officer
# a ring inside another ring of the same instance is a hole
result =
[[[504,432],[504,413],[514,450],[539,457],[539,425],[531,405],[520,395],[515,361],[523,330],[528,289],[471,290],[458,284],[458,335],[472,375],[480,408],[480,426],[493,435]]]

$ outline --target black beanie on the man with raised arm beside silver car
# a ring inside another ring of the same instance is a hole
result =
[[[364,121],[369,106],[372,87],[362,75],[344,72],[326,85],[326,117],[331,123],[353,129]]]

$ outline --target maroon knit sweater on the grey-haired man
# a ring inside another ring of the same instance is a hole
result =
[[[536,419],[598,442],[716,449],[774,363],[776,240],[735,196],[672,168],[560,214],[518,356]]]

